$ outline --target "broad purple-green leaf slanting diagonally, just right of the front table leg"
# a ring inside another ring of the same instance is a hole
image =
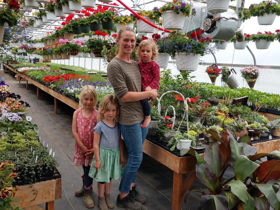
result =
[[[211,191],[219,193],[219,180],[213,171],[203,165],[196,164],[195,171],[197,178]]]

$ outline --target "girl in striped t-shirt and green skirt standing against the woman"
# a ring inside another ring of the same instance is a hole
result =
[[[97,120],[100,122],[94,128],[94,146],[92,150],[88,150],[88,154],[94,152],[89,176],[98,182],[98,206],[100,210],[114,207],[110,200],[111,179],[116,180],[122,176],[122,167],[125,164],[120,125],[116,123],[118,116],[117,97],[112,94],[103,97],[97,114]]]

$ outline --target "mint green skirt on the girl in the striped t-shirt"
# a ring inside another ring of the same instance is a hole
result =
[[[88,176],[95,178],[99,182],[110,182],[110,178],[119,179],[123,174],[122,165],[120,164],[120,150],[117,149],[107,149],[105,147],[99,146],[99,159],[100,168],[97,173],[94,164],[95,156],[92,159],[90,171]]]

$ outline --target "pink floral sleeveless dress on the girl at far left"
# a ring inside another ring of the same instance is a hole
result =
[[[78,134],[81,142],[90,150],[93,148],[94,127],[96,125],[97,110],[85,118],[82,115],[82,109],[77,110]],[[75,143],[74,165],[91,165],[93,155],[84,156],[80,147]]]

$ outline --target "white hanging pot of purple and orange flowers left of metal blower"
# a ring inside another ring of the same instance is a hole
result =
[[[162,16],[162,26],[168,30],[182,30],[185,23],[185,16],[190,15],[191,7],[183,1],[172,1],[160,7],[158,12]],[[191,16],[196,14],[192,9]]]

